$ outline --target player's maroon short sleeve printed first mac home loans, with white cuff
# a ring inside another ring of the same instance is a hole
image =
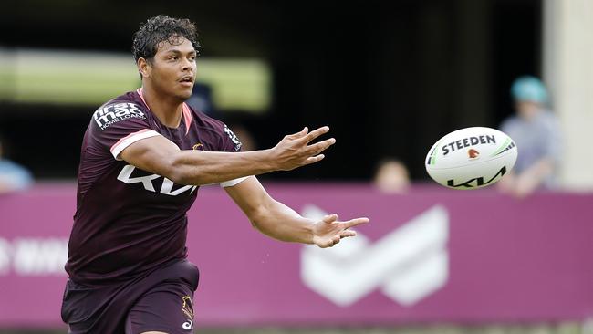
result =
[[[131,102],[102,106],[93,114],[89,130],[92,146],[109,150],[116,160],[121,160],[121,151],[132,143],[161,135],[151,130],[146,111]]]

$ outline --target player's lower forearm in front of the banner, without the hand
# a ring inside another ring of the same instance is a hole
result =
[[[277,240],[313,244],[313,222],[275,200],[259,208],[249,220],[257,230]]]

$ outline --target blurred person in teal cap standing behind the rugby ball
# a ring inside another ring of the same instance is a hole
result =
[[[519,154],[515,167],[498,187],[522,198],[537,189],[557,186],[561,131],[556,115],[547,109],[547,90],[538,78],[516,78],[511,95],[516,113],[503,121],[500,130],[515,141]]]

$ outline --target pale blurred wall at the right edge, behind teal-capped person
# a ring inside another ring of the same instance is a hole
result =
[[[593,4],[588,0],[544,1],[544,78],[565,131],[563,183],[592,189]]]

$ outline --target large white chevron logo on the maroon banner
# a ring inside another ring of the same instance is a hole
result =
[[[302,214],[320,219],[327,213],[307,204]],[[338,306],[349,306],[377,289],[411,306],[446,284],[448,238],[449,214],[437,204],[374,243],[357,231],[356,237],[332,248],[305,245],[301,278]]]

